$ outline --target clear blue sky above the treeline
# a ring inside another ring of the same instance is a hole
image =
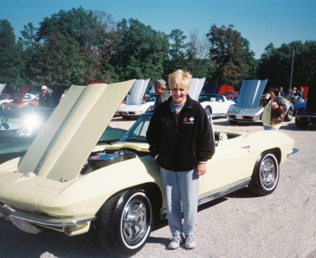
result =
[[[20,36],[23,25],[39,27],[45,17],[82,6],[105,11],[115,21],[138,19],[169,34],[179,29],[209,32],[211,25],[232,24],[260,58],[270,42],[275,47],[294,40],[316,40],[316,0],[0,0],[0,20],[7,19]]]

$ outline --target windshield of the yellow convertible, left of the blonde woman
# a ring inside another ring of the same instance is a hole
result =
[[[132,142],[132,141],[143,141],[146,142],[146,132],[150,124],[150,119],[152,114],[142,115],[136,120],[135,124],[126,132],[126,134],[121,138],[122,142]]]

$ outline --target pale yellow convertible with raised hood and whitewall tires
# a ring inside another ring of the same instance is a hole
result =
[[[70,88],[25,156],[0,165],[0,219],[29,233],[75,236],[96,228],[117,257],[145,245],[154,216],[166,218],[159,167],[145,140],[151,115],[91,154],[133,82]],[[294,140],[280,131],[215,131],[215,138],[199,204],[246,186],[272,193],[279,165],[294,152]]]

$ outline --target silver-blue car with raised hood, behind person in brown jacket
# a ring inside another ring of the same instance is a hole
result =
[[[264,96],[263,90],[267,81],[267,79],[242,81],[238,102],[236,105],[231,105],[227,112],[230,124],[237,124],[238,122],[262,122],[261,117],[264,108],[261,107],[260,100]],[[286,98],[284,98],[284,101],[287,105],[284,121],[289,122],[292,119],[294,107]]]

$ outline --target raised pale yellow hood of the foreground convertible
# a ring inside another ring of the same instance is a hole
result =
[[[133,82],[72,85],[34,139],[18,172],[55,181],[75,179]]]

